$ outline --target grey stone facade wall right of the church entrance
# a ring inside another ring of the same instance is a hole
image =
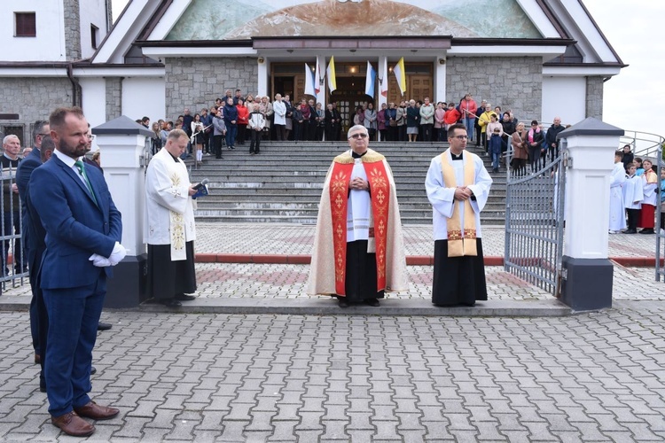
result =
[[[519,120],[541,115],[543,58],[451,57],[446,62],[446,98],[456,104],[470,92],[478,105],[512,109]]]

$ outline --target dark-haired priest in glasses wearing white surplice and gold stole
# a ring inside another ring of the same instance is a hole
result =
[[[474,306],[487,299],[481,210],[492,179],[482,159],[465,151],[464,125],[448,130],[450,149],[432,159],[425,188],[433,208],[436,306]]]

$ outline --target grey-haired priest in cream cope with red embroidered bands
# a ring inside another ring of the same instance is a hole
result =
[[[348,129],[348,144],[325,177],[308,293],[378,307],[385,291],[409,287],[395,180],[386,158],[368,149],[367,128]]]

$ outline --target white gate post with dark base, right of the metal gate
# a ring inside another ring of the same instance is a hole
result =
[[[561,301],[574,310],[612,307],[607,258],[610,174],[623,129],[592,117],[559,133],[567,141]]]

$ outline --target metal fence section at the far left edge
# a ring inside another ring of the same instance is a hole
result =
[[[23,224],[20,210],[19,190],[16,186],[16,168],[0,170],[3,191],[0,194],[0,284],[3,290],[7,284],[13,287],[27,283],[27,254],[21,243]]]

